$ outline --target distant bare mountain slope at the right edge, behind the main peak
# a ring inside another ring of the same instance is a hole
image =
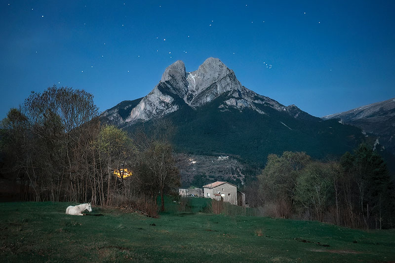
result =
[[[366,137],[369,134],[375,137],[375,148],[395,154],[395,98],[323,116],[322,119],[339,119],[340,123],[359,127]]]

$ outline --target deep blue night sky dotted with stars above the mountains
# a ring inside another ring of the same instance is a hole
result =
[[[104,111],[208,57],[286,106],[347,111],[395,97],[394,14],[394,0],[0,0],[0,119],[54,84]]]

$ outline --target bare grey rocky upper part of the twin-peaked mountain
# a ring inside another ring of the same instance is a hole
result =
[[[123,113],[130,112],[127,116],[122,116],[117,107],[105,111],[102,116],[118,126],[129,126],[175,112],[182,106],[197,110],[222,95],[225,100],[219,106],[220,111],[229,111],[231,108],[243,111],[248,108],[266,114],[259,107],[264,105],[295,118],[314,118],[294,105],[285,107],[245,88],[237,80],[235,73],[217,58],[206,59],[193,72],[186,72],[181,60],[174,62],[165,69],[158,85],[137,105],[125,105],[122,102],[120,109],[123,109]]]

